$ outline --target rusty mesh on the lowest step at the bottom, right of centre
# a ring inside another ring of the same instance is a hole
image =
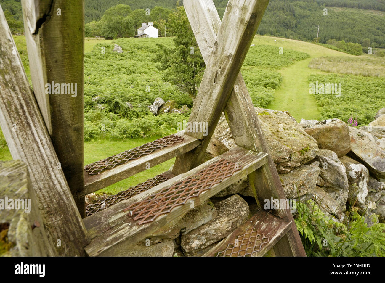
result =
[[[241,236],[227,245],[224,251],[220,251],[217,256],[252,256],[269,243],[270,237],[259,234],[255,228],[249,228]]]

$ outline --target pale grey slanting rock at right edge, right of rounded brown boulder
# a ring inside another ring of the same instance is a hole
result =
[[[385,181],[385,151],[367,132],[349,127],[352,151],[349,156],[362,163],[379,181]]]

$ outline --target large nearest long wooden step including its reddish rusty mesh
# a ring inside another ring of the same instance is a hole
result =
[[[267,156],[237,146],[131,199],[92,214],[84,219],[92,238],[85,247],[87,254],[109,256],[129,248],[263,166]]]

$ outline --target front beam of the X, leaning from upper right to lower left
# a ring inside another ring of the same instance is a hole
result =
[[[268,2],[268,0],[229,1],[209,56],[205,55],[209,59],[206,60],[206,70],[189,118],[189,122],[192,123],[208,122],[209,131],[207,136],[203,136],[203,133],[188,133],[202,139],[202,145],[197,147],[192,154],[178,157],[173,174],[186,172],[200,164],[219,118],[226,107]],[[206,11],[200,10],[200,1],[188,0],[186,3],[192,10],[206,13]],[[210,26],[198,23],[195,28],[196,30],[210,30]]]

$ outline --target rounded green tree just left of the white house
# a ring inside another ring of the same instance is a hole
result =
[[[101,32],[105,38],[134,36],[134,20],[129,5],[119,4],[105,11],[100,20]]]

